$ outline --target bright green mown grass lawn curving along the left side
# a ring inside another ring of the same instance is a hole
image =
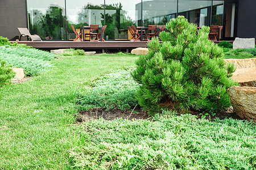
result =
[[[0,169],[67,169],[68,150],[80,143],[69,126],[75,95],[86,82],[133,66],[136,58],[61,57],[47,73],[0,88]]]

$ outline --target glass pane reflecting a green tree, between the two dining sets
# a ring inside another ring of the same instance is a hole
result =
[[[127,40],[127,26],[141,26],[141,0],[106,1],[106,40]]]

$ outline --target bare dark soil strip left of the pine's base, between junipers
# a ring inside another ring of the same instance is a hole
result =
[[[143,112],[141,108],[135,107],[134,111],[122,111],[121,109],[111,109],[105,111],[103,108],[94,108],[90,111],[80,111],[77,114],[77,121],[82,122],[90,119],[114,120],[115,118],[125,118],[128,120],[134,119],[150,119],[150,116],[146,112]]]

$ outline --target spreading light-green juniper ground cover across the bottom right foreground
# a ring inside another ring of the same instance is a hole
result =
[[[154,121],[86,121],[75,169],[254,169],[255,125],[164,112]]]

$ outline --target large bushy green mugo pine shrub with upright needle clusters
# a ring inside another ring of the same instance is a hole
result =
[[[199,31],[184,16],[166,24],[148,42],[149,53],[135,61],[132,76],[140,84],[139,105],[152,114],[162,109],[214,112],[230,106],[227,89],[237,85],[230,77],[236,70],[225,65],[221,48],[208,40],[209,27]]]

